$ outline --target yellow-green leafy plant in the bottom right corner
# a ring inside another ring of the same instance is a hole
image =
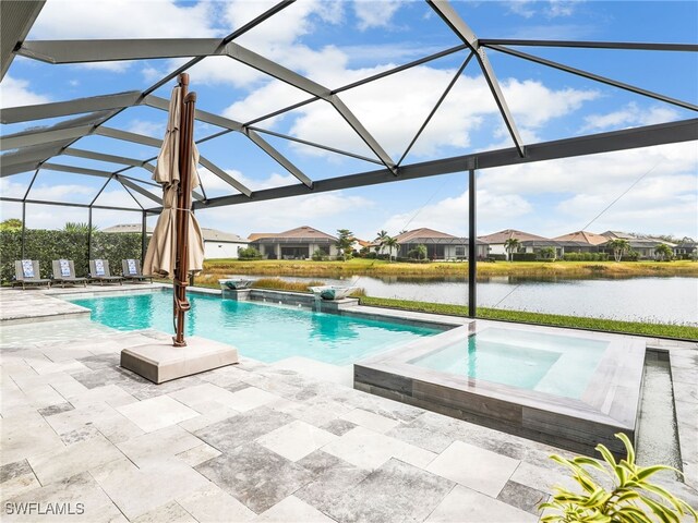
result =
[[[660,471],[676,471],[671,466],[639,466],[635,463],[635,451],[628,437],[615,435],[627,451],[627,458],[616,462],[613,454],[603,445],[597,450],[603,461],[587,457],[566,460],[559,455],[551,459],[568,467],[571,477],[579,484],[583,492],[573,492],[564,487],[555,487],[552,501],[541,503],[541,509],[549,513],[541,518],[545,523],[604,522],[604,523],[642,523],[652,521],[650,514],[663,523],[679,523],[682,516],[693,516],[698,522],[698,514],[688,503],[676,498],[665,488],[650,482],[650,477]],[[607,490],[597,482],[590,473],[599,472],[612,482]],[[681,474],[681,473],[679,473]]]

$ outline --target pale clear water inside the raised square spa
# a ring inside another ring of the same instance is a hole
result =
[[[409,363],[580,399],[607,346],[588,338],[488,328]]]

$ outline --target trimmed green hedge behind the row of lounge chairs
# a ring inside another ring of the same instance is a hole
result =
[[[146,239],[147,242],[147,239]],[[147,246],[147,245],[146,245]],[[22,258],[22,231],[0,231],[0,276],[14,278],[14,262]],[[24,258],[38,259],[41,278],[49,278],[53,259],[72,259],[76,276],[89,272],[87,233],[27,229]],[[121,275],[121,260],[141,258],[140,233],[93,232],[92,259],[108,259],[112,275]]]

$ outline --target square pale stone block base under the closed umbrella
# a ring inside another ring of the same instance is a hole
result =
[[[154,384],[205,373],[238,362],[236,348],[196,336],[188,338],[184,348],[172,346],[168,342],[156,342],[121,351],[121,366]]]

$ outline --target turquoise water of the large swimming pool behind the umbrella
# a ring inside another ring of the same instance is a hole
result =
[[[442,330],[308,309],[190,294],[186,336],[234,345],[240,354],[274,363],[304,356],[348,365],[365,356]],[[92,309],[92,319],[119,330],[153,328],[173,333],[172,294],[71,300]]]

